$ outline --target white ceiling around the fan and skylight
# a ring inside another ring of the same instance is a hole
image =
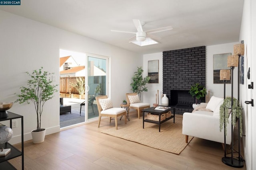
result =
[[[156,53],[239,41],[244,0],[21,0],[21,6],[0,10],[40,21],[137,53]],[[160,44],[139,47],[128,42],[136,32],[132,19],[146,22],[143,29],[171,25],[154,33]]]

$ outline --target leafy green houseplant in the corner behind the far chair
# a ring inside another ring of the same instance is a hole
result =
[[[143,78],[142,73],[143,69],[142,67],[138,67],[137,72],[134,72],[134,76],[132,77],[132,83],[130,84],[132,86],[132,92],[138,93],[139,96],[141,96],[141,92],[147,92],[148,88],[146,87],[146,84],[149,82],[150,77],[146,76]]]

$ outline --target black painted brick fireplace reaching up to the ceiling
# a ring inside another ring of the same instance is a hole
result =
[[[176,114],[191,112],[194,98],[190,86],[206,82],[205,46],[163,52],[163,93],[169,105],[176,106]],[[198,101],[205,102],[205,98]]]

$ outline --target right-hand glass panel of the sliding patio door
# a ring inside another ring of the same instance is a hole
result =
[[[96,96],[108,94],[108,58],[87,55],[87,116],[86,121],[99,116]]]

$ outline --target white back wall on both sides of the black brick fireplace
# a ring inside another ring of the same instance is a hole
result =
[[[227,43],[227,44],[220,44],[220,45],[211,45],[206,46],[206,89],[207,91],[210,90],[210,96],[217,96],[222,98],[223,97],[223,84],[213,84],[213,55],[214,54],[222,54],[222,53],[232,53],[234,43]],[[143,101],[150,103],[152,106],[153,103],[156,102],[156,93],[159,90],[159,104],[161,104],[161,95],[163,90],[163,54],[161,53],[154,53],[154,54],[147,54],[143,56],[143,69],[144,69],[144,76],[148,75],[148,61],[150,60],[159,60],[159,84],[147,84],[148,92],[143,92]],[[237,82],[237,69],[234,69],[234,82]],[[226,96],[231,96],[231,84],[226,84]],[[234,85],[234,97],[237,98],[237,86]]]

